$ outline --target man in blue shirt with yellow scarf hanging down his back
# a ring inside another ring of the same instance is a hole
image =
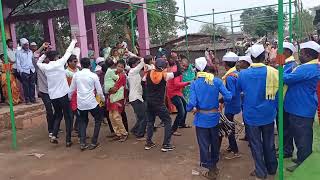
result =
[[[263,45],[253,45],[250,54],[253,63],[240,72],[238,88],[244,93],[243,118],[255,162],[255,170],[250,175],[265,179],[268,174],[276,174],[278,167],[274,144],[278,71],[262,63],[265,60]]]

